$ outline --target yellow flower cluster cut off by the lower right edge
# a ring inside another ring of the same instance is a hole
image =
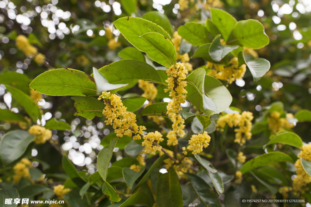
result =
[[[304,192],[308,190],[307,185],[311,182],[311,177],[302,167],[300,158],[311,161],[311,144],[306,144],[302,147],[295,163],[297,177],[293,180],[293,190],[304,194]]]

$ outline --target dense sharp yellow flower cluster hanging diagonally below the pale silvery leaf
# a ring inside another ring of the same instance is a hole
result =
[[[133,140],[140,139],[146,127],[137,126],[135,123],[136,115],[126,110],[127,108],[123,106],[121,97],[116,94],[110,95],[110,92],[102,92],[98,100],[102,98],[104,98],[104,104],[106,105],[103,110],[103,115],[107,119],[105,120],[106,125],[112,125],[118,137],[123,137],[123,134],[132,137],[132,133],[134,133]]]

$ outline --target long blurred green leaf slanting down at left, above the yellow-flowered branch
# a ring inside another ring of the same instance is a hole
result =
[[[41,113],[37,104],[26,93],[7,84],[5,84],[5,87],[12,94],[12,97],[24,107],[26,113],[35,123],[37,123],[38,119],[41,120]]]

